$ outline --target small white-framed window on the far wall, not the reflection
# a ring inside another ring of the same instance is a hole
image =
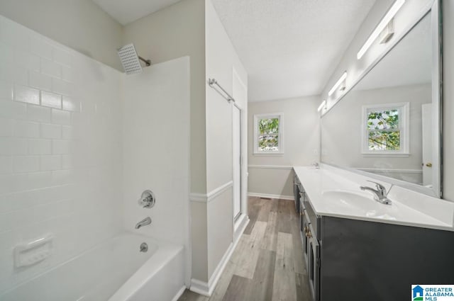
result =
[[[282,113],[254,115],[254,154],[283,154]]]

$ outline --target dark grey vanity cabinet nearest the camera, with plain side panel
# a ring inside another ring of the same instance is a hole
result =
[[[454,284],[454,232],[319,216],[302,191],[299,225],[314,301],[409,300],[412,284]]]

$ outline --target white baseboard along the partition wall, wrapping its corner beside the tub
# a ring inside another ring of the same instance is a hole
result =
[[[244,232],[244,229],[248,226],[249,224],[249,217],[245,215],[245,219],[243,218],[244,221],[242,221],[242,225],[238,227],[238,230],[240,233]],[[241,235],[238,235],[236,239],[228,246],[228,249],[224,256],[222,256],[221,261],[218,263],[218,266],[216,266],[216,269],[214,270],[213,274],[211,275],[208,283],[198,280],[198,279],[191,279],[191,288],[189,290],[192,290],[194,293],[198,293],[200,295],[204,296],[211,296],[211,294],[214,291],[214,288],[216,288],[216,284],[218,284],[219,278],[221,278],[222,272],[224,271],[224,268],[226,268],[226,265],[228,261],[230,260],[233,251],[235,251],[236,246],[238,245],[238,242],[240,241]]]

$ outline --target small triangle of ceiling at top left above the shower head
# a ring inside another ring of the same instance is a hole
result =
[[[179,0],[93,0],[123,25],[131,23]]]

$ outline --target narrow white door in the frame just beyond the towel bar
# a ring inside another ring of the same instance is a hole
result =
[[[233,106],[233,217],[241,213],[241,111]]]

